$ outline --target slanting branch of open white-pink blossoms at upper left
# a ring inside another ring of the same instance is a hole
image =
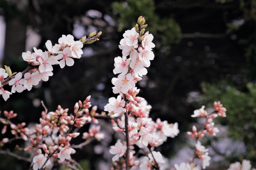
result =
[[[94,35],[96,35],[95,32],[91,33],[88,39],[83,37],[79,41],[75,41],[72,35],[62,35],[58,40],[59,44],[52,45],[52,42],[47,40],[45,43],[47,51],[43,52],[34,47],[33,53],[30,51],[22,53],[23,60],[29,64],[26,70],[13,76],[15,73],[12,73],[10,67],[5,66],[5,70],[0,68],[0,95],[2,94],[3,99],[7,101],[12,93],[20,93],[26,89],[30,91],[32,86],[37,85],[40,80],[48,81],[49,76],[53,75],[52,65],[59,64],[61,68],[64,68],[65,65],[74,65],[73,58],[80,59],[81,54],[83,54],[83,44],[92,43],[94,39],[99,40],[98,37],[101,32],[96,36]],[[93,40],[91,40],[92,36],[94,36]],[[6,71],[7,73],[5,73]],[[7,76],[9,77],[7,78]],[[12,86],[11,92],[3,89],[3,85],[7,83]]]

